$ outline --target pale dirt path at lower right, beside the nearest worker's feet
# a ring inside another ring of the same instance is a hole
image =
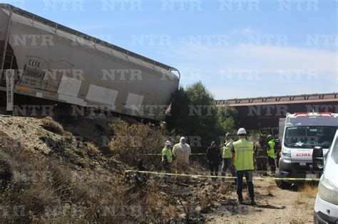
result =
[[[257,206],[225,204],[205,215],[207,223],[313,223],[314,193],[282,190],[271,178],[255,180]],[[236,199],[235,192],[231,193]],[[243,192],[247,198],[247,191]],[[247,202],[250,201],[247,198]]]

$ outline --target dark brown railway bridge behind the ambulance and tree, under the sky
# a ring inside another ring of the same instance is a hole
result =
[[[235,107],[241,127],[260,129],[278,127],[278,121],[287,112],[338,113],[338,93],[287,95],[216,100],[218,107]]]

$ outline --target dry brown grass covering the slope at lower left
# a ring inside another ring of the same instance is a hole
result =
[[[24,215],[0,215],[1,223],[160,223],[178,216],[153,180],[138,188],[112,171],[112,183],[101,173],[16,146],[4,133],[0,142],[6,142],[0,158],[11,178],[0,205],[24,206]],[[91,143],[88,148],[98,150]]]

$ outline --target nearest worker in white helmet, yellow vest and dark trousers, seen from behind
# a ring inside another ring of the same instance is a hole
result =
[[[247,188],[251,199],[251,205],[255,203],[255,192],[252,183],[253,171],[254,171],[254,144],[247,140],[247,132],[244,128],[238,129],[237,132],[238,141],[232,144],[232,158],[231,163],[235,166],[237,174],[237,196],[238,202],[243,204],[242,196],[242,183],[243,176],[247,180]]]

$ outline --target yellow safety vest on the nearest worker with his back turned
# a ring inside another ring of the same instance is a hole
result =
[[[247,139],[240,139],[233,143],[235,150],[234,165],[237,171],[253,171],[254,144]]]

